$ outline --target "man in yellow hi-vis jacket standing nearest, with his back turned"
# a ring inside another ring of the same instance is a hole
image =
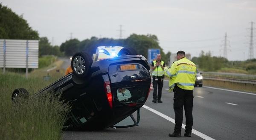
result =
[[[177,52],[177,61],[172,63],[164,74],[170,77],[169,90],[174,91],[173,108],[175,111],[175,129],[169,137],[181,137],[183,106],[186,116],[185,137],[191,137],[193,117],[193,90],[195,85],[196,66],[185,57],[184,51]]]

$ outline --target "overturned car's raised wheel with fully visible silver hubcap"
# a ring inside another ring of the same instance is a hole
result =
[[[78,77],[85,77],[90,71],[93,59],[84,51],[76,53],[71,60],[73,74]]]

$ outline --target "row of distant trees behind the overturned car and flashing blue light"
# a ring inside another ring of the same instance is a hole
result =
[[[61,52],[64,52],[66,56],[73,56],[77,51],[86,51],[90,55],[96,52],[98,46],[122,46],[131,47],[137,50],[140,55],[148,57],[148,48],[160,49],[162,59],[169,62],[171,52],[164,53],[163,49],[159,46],[157,36],[155,35],[137,35],[131,34],[126,39],[112,39],[112,38],[97,38],[91,37],[90,39],[84,39],[81,42],[78,39],[70,39],[62,43],[60,46]]]

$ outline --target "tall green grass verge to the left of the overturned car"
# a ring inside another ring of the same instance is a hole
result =
[[[44,59],[44,58],[43,58]],[[48,61],[49,58],[40,61]],[[56,61],[48,67],[37,69],[29,73],[6,72],[0,69],[0,137],[1,140],[59,140],[61,139],[62,126],[69,111],[58,97],[45,94],[37,98],[20,98],[17,104],[11,101],[11,95],[16,88],[25,88],[30,95],[41,90],[53,81],[64,76],[60,69],[62,62]],[[47,65],[47,64],[45,64]],[[47,69],[57,66],[60,72]],[[43,76],[51,76],[49,81],[44,81]]]

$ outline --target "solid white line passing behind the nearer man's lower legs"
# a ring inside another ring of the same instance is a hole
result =
[[[157,114],[157,115],[159,115],[159,116],[165,118],[166,120],[169,120],[170,122],[172,122],[172,123],[175,124],[175,120],[174,120],[173,118],[170,118],[170,117],[164,115],[163,113],[158,112],[157,110],[152,109],[152,108],[150,108],[150,107],[148,107],[148,106],[146,106],[146,105],[143,105],[142,107],[144,107],[145,109],[148,109],[149,111],[151,111],[151,112],[153,112],[153,113],[155,113],[155,114]],[[185,124],[182,124],[181,127],[182,127],[183,129],[185,129]],[[199,132],[199,131],[197,131],[197,130],[195,130],[195,129],[192,129],[192,133],[195,134],[195,135],[197,135],[197,136],[199,136],[199,137],[201,137],[201,138],[203,138],[203,139],[205,139],[205,140],[215,140],[215,139],[213,139],[213,138],[207,136],[206,134],[203,134],[203,133],[201,133],[201,132]]]

